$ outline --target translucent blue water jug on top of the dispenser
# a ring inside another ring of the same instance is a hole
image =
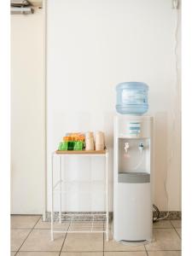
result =
[[[125,82],[116,86],[118,113],[142,115],[148,111],[148,85]]]

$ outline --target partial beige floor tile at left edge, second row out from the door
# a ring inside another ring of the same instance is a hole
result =
[[[31,230],[11,230],[11,251],[19,249]]]

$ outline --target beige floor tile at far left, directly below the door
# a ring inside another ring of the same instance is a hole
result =
[[[12,215],[11,229],[32,229],[39,218],[38,215]]]

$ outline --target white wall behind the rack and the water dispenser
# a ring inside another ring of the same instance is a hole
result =
[[[48,0],[47,21],[48,167],[50,153],[65,132],[102,130],[113,172],[114,86],[143,81],[149,85],[148,114],[155,119],[154,203],[166,210],[168,172],[169,210],[181,210],[172,1]],[[71,165],[73,160],[68,161]],[[84,170],[89,175],[89,162],[77,171],[80,162],[75,161],[69,172],[75,169],[80,177]],[[94,166],[92,174],[102,163]],[[49,173],[48,168],[48,189]]]

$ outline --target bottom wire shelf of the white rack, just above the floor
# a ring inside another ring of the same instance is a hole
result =
[[[53,229],[55,233],[103,233],[106,232],[106,221],[106,213],[56,212]]]

